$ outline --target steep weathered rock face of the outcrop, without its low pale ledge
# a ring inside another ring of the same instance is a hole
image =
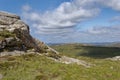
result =
[[[29,26],[19,16],[0,12],[0,50],[29,49],[34,49],[40,53],[52,51],[43,42],[30,35]]]

